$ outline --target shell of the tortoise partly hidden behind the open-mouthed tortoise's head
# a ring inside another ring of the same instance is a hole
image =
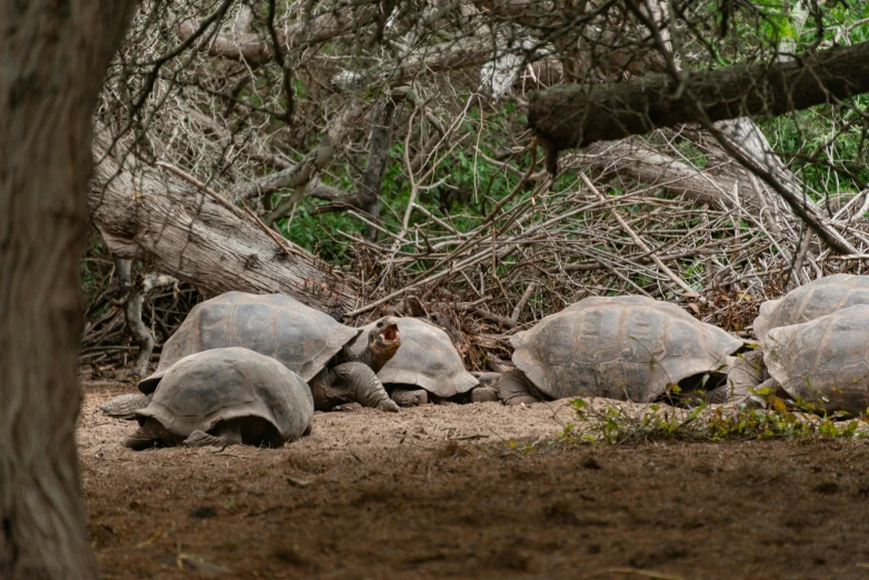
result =
[[[461,357],[443,330],[418,318],[397,320],[401,348],[377,373],[380,382],[414,384],[442,398],[468,392],[480,383],[465,370]],[[371,328],[373,324],[362,330]]]

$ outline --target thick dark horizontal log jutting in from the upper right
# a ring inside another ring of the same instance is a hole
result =
[[[663,127],[783,114],[869,91],[869,42],[793,62],[646,74],[607,84],[562,84],[532,94],[528,120],[556,152]]]

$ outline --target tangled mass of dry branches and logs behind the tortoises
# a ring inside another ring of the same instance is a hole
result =
[[[146,2],[98,111],[94,224],[140,278],[281,291],[359,323],[422,309],[476,369],[586,296],[675,300],[746,332],[769,297],[862,272],[862,97],[759,126],[648,118],[556,174],[525,117],[558,83],[857,43],[862,7],[573,4]],[[82,360],[120,363],[123,292],[99,259]],[[182,288],[144,309],[158,343],[199,299]]]

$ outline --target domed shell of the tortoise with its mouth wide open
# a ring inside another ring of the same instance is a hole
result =
[[[310,381],[359,332],[287,296],[227,292],[190,310],[139,390],[153,392],[163,374],[189,354],[229,347],[277,359]]]

